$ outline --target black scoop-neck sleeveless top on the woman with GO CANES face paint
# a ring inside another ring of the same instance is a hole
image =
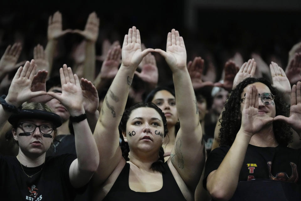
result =
[[[124,168],[117,177],[114,185],[103,200],[185,200],[175,178],[170,171],[167,162],[163,164],[165,173],[162,173],[163,186],[155,192],[135,192],[129,188],[129,163],[125,163]]]

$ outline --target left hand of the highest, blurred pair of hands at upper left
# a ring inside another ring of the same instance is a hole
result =
[[[71,29],[62,30],[62,14],[59,11],[56,11],[53,16],[49,16],[47,29],[48,40],[56,40],[71,31]]]

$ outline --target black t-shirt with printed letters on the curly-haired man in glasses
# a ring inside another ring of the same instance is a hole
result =
[[[230,146],[222,146],[210,153],[206,161],[203,180],[205,189],[208,175],[218,169],[229,149]],[[231,171],[231,166],[229,166],[229,171]],[[257,147],[249,144],[238,181],[272,179],[301,184],[300,172],[301,149],[291,149],[280,145]]]

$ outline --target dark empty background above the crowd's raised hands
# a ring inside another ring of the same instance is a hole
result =
[[[301,3],[295,0],[55,0],[9,1],[0,5],[0,53],[8,44],[23,41],[20,60],[31,59],[36,44],[46,46],[48,17],[57,10],[62,13],[63,30],[83,30],[88,15],[96,11],[100,19],[97,55],[101,55],[104,39],[122,42],[133,25],[140,30],[141,41],[147,47],[165,50],[167,33],[175,28],[184,38],[187,61],[194,56],[211,54],[219,71],[236,51],[244,60],[249,59],[252,52],[259,53],[266,62],[275,56],[285,68],[288,51],[301,38]],[[60,54],[64,63],[72,66],[68,55],[80,41],[82,38],[78,35],[63,36]],[[161,68],[166,66],[162,64]]]

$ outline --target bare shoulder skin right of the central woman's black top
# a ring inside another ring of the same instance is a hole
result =
[[[175,178],[177,185],[179,186],[184,198],[186,200],[194,200],[194,193],[188,189],[187,185],[183,181],[177,169],[172,165],[170,158],[167,160],[167,165],[170,171],[172,172],[172,176]]]

